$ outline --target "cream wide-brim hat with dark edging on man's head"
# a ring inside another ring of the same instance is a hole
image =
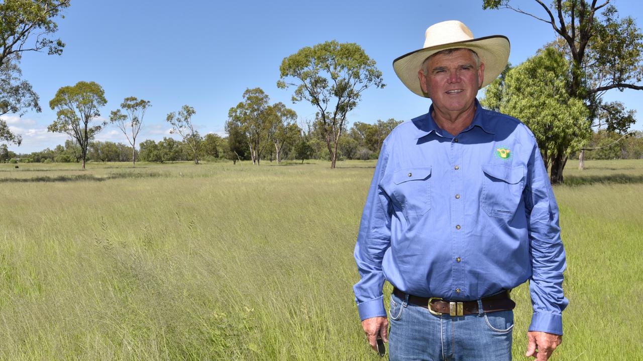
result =
[[[457,20],[438,22],[426,29],[424,47],[393,60],[395,74],[410,91],[429,98],[422,91],[417,72],[426,58],[446,49],[465,48],[478,54],[484,64],[484,79],[480,88],[489,85],[502,73],[509,60],[509,39],[503,35],[491,35],[475,39],[471,30]]]

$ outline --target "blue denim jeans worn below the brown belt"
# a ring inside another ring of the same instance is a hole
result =
[[[433,315],[391,295],[391,361],[511,361],[513,311]]]

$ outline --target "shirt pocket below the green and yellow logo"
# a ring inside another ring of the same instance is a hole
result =
[[[524,166],[484,164],[480,207],[487,215],[511,219],[518,209],[525,179]]]

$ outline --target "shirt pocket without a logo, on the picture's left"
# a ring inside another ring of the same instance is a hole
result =
[[[431,209],[431,166],[401,168],[393,174],[393,195],[404,216],[422,216]]]

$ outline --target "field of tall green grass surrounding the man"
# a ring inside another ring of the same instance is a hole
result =
[[[374,162],[19,166],[0,164],[0,360],[379,359],[352,295]],[[643,360],[643,161],[568,168],[553,359]]]

